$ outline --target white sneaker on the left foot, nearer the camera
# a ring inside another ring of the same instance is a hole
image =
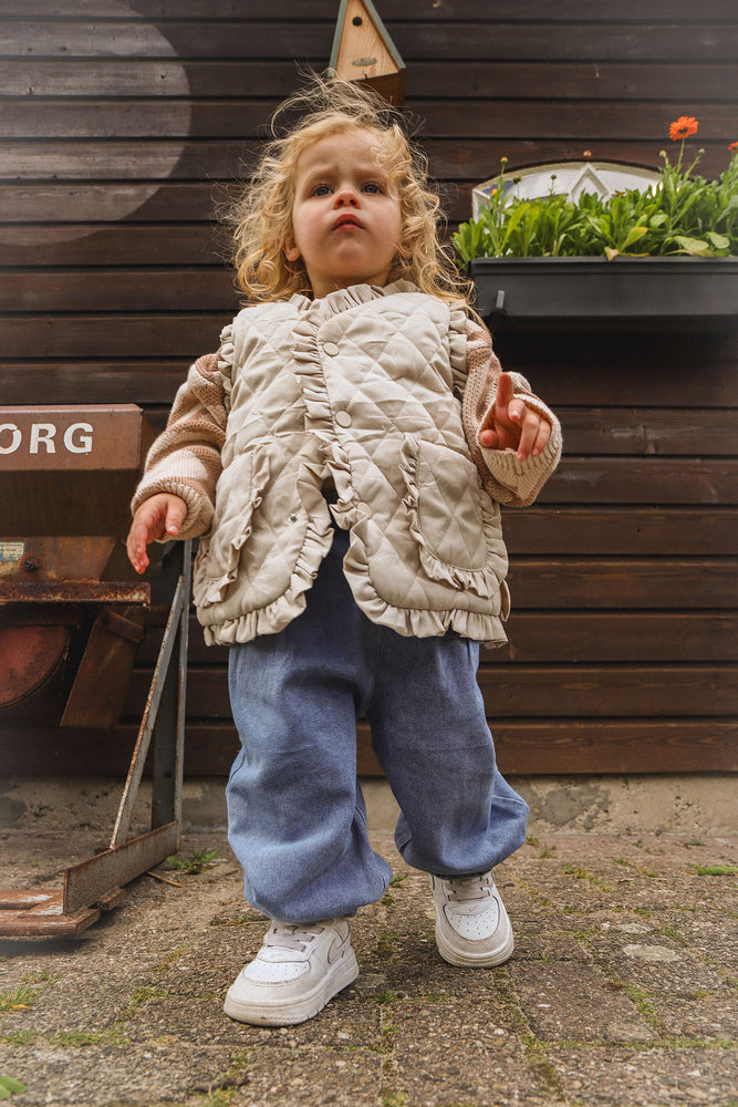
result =
[[[240,1023],[303,1023],[358,975],[345,919],[304,925],[276,922],[262,948],[228,989],[224,1011]]]

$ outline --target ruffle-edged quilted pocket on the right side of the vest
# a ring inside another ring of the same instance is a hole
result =
[[[507,572],[499,513],[469,457],[407,437],[401,454],[403,500],[420,562],[434,580],[495,594]]]

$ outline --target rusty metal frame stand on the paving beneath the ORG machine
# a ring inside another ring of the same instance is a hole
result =
[[[179,847],[191,551],[190,542],[171,546],[163,562],[171,606],[110,847],[65,869],[63,889],[0,889],[0,937],[79,934],[119,902],[124,884]],[[152,828],[126,839],[149,747]]]

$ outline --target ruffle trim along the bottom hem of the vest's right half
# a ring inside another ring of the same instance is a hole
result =
[[[360,519],[351,532],[343,568],[356,603],[372,622],[389,627],[404,638],[437,638],[453,630],[461,638],[489,646],[505,645],[508,639],[499,615],[461,608],[451,611],[398,608],[383,600],[371,580],[366,555],[362,552],[365,540],[365,526]],[[507,589],[503,588],[502,594],[507,596]]]

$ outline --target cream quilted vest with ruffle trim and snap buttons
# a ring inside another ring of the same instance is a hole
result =
[[[500,510],[461,425],[462,307],[361,284],[246,308],[221,341],[224,467],[194,582],[206,640],[247,642],[304,610],[332,511],[371,620],[505,642]]]

